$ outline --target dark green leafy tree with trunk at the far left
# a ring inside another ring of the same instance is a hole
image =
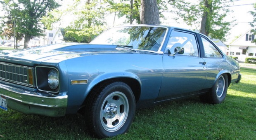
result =
[[[57,0],[4,0],[7,13],[16,21],[18,33],[24,34],[24,48],[32,37],[43,35],[40,20],[47,12],[59,7]]]

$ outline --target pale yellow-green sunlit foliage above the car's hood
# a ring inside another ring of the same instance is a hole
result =
[[[88,43],[105,29],[105,12],[102,0],[76,0],[66,9],[48,13],[42,22],[52,29],[52,24],[68,15],[72,22],[62,29],[64,41]]]

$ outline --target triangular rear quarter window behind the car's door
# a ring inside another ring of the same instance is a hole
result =
[[[204,44],[204,57],[222,58],[220,51],[211,42],[204,37],[201,37],[201,39]]]

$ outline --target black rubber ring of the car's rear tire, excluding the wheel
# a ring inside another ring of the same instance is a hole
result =
[[[223,76],[223,78],[225,80],[225,86],[224,86],[225,89],[223,91],[223,94],[220,97],[218,97],[217,92],[216,92],[216,88],[217,88],[218,80],[221,78],[221,76]],[[211,91],[213,104],[222,103],[226,98],[227,91],[228,91],[228,77],[227,77],[227,75],[220,75],[220,77],[218,77],[218,79],[214,83],[212,91]]]

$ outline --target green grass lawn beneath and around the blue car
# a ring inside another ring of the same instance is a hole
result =
[[[109,139],[256,139],[256,70],[242,69],[241,83],[228,89],[225,102],[201,103],[199,98],[176,100],[137,110],[129,131]],[[1,138],[2,137],[2,138]],[[0,139],[84,140],[84,117],[45,117],[0,110]]]

